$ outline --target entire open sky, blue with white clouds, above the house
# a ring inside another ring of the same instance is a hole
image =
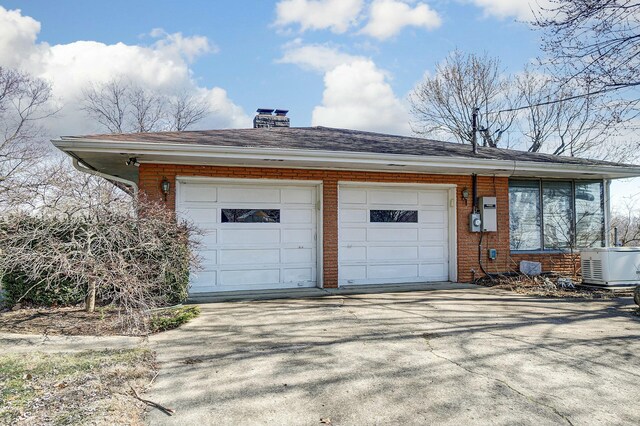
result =
[[[425,73],[456,48],[521,71],[540,55],[530,3],[547,1],[0,0],[0,66],[52,83],[52,138],[103,130],[79,99],[115,77],[201,97],[214,113],[200,128],[273,107],[293,126],[411,134],[406,97]],[[616,185],[618,200],[637,186]]]

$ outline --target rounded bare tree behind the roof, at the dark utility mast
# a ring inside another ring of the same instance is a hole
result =
[[[472,113],[479,108],[483,144],[495,147],[515,119],[513,113],[496,113],[511,106],[510,85],[497,58],[456,50],[409,96],[413,130],[426,135],[444,132],[471,143]]]

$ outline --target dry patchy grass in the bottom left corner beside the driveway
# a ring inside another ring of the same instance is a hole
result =
[[[148,349],[2,355],[0,424],[142,424],[154,373]]]

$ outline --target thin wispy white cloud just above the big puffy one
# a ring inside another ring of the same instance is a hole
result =
[[[300,68],[327,72],[338,65],[348,64],[361,56],[350,55],[326,44],[302,44],[300,39],[284,45],[284,54],[277,62],[298,65]]]

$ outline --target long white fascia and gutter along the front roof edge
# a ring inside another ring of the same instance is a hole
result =
[[[422,168],[447,168],[459,170],[461,174],[469,170],[486,170],[488,174],[513,176],[516,172],[557,172],[567,174],[592,174],[595,177],[629,178],[640,176],[639,167],[587,166],[577,164],[554,164],[532,161],[496,160],[468,157],[425,157],[419,155],[380,154],[349,151],[313,151],[302,149],[229,147],[211,145],[165,144],[144,141],[113,141],[97,139],[57,139],[51,141],[62,151],[95,152],[95,153],[127,153],[131,155],[147,155],[170,157],[171,162],[180,164],[179,158],[220,158],[235,160],[279,160],[291,162],[323,162],[338,166],[341,163],[360,163],[370,166],[390,164],[398,166],[414,166]],[[173,161],[175,160],[175,161]],[[144,159],[140,160],[144,163]],[[165,161],[166,163],[166,161]],[[387,170],[388,171],[388,170]]]

